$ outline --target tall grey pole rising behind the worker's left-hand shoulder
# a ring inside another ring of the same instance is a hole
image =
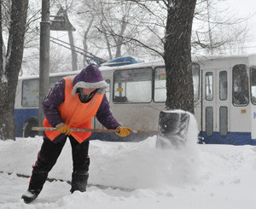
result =
[[[39,125],[43,125],[42,102],[49,91],[49,0],[42,0],[42,20],[40,23],[39,61]]]

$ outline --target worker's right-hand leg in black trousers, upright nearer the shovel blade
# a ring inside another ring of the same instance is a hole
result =
[[[87,180],[89,177],[89,140],[79,143],[73,136],[69,136],[69,139],[72,146],[73,156],[73,174],[70,192],[73,193],[76,190],[84,192],[86,191]]]

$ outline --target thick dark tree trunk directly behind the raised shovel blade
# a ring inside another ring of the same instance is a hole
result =
[[[166,42],[166,108],[194,113],[191,30],[196,0],[168,1]]]

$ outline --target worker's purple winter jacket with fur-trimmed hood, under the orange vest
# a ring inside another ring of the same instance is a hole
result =
[[[76,94],[78,88],[96,88],[97,93],[104,94],[108,84],[103,80],[102,73],[96,67],[95,64],[83,69],[75,78],[73,78],[73,91],[72,94]],[[58,111],[58,107],[62,102],[65,101],[65,79],[61,78],[55,86],[49,90],[49,93],[44,98],[43,109],[46,119],[48,119],[49,124],[55,127],[60,123],[63,123],[61,119],[61,114]],[[107,97],[104,95],[102,103],[96,113],[96,119],[106,127],[107,129],[116,129],[119,122],[113,118],[110,111]],[[45,135],[44,135],[45,136]],[[61,134],[57,136],[54,142],[61,142],[66,136]]]

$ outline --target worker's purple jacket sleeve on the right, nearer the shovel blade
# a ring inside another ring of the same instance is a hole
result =
[[[121,126],[119,122],[113,118],[113,114],[110,111],[107,97],[104,95],[102,103],[96,113],[96,118],[107,129],[116,129]]]

